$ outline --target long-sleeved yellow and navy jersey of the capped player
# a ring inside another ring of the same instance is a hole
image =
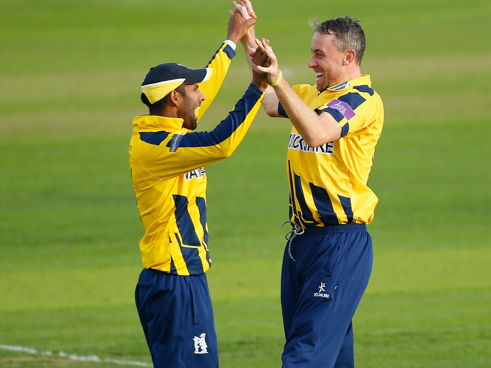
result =
[[[206,100],[215,98],[235,54],[227,44],[208,65],[211,79],[200,83]],[[142,115],[133,120],[130,168],[145,235],[143,266],[177,275],[199,275],[211,266],[206,223],[206,172],[203,166],[237,148],[256,115],[263,92],[250,85],[228,117],[213,131],[190,132],[183,119]]]

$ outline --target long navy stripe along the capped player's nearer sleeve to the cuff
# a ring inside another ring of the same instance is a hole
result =
[[[196,131],[184,134],[178,147],[209,147],[220,144],[230,137],[246,120],[250,110],[256,105],[263,92],[254,84],[250,84],[244,96],[239,100],[233,111],[230,111],[227,118],[218,124],[213,131]],[[171,142],[167,143],[170,147]]]

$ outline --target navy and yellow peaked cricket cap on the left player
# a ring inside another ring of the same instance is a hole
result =
[[[181,84],[201,83],[210,79],[213,68],[190,69],[176,63],[165,63],[150,68],[143,82],[141,92],[150,104],[163,99]]]

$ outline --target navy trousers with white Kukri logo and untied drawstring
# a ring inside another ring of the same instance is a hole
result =
[[[372,272],[364,224],[306,229],[281,272],[283,368],[354,368],[353,315]]]

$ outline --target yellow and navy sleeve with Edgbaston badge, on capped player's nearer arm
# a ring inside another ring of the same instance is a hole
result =
[[[244,138],[263,97],[264,93],[250,84],[234,110],[213,131],[139,132],[144,143],[135,159],[152,176],[168,180],[227,158]]]

